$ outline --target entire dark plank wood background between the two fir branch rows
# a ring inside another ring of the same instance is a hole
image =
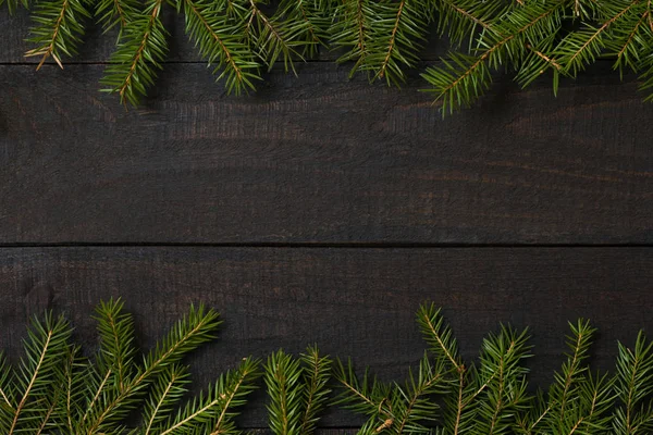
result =
[[[500,321],[531,326],[545,384],[567,321],[616,340],[653,330],[653,105],[600,63],[552,96],[502,78],[442,120],[417,72],[402,91],[328,60],[230,97],[185,41],[144,104],[98,92],[113,36],[63,71],[25,59],[25,14],[0,12],[0,347],[30,315],[121,296],[149,346],[193,301],[221,338],[199,384],[241,357],[318,343],[398,378],[423,345],[421,301],[445,308],[467,357]],[[424,63],[445,47],[432,41]],[[263,400],[243,424],[264,426]],[[328,427],[358,422],[330,414]],[[335,434],[336,432],[334,432]]]

